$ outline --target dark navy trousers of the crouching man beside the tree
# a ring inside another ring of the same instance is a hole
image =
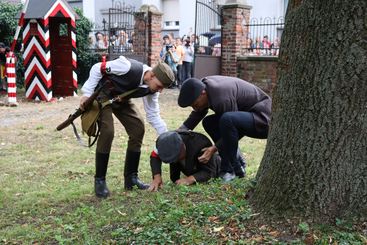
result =
[[[222,140],[219,154],[222,157],[221,172],[233,172],[240,163],[237,160],[238,141],[243,136],[267,138],[267,130],[260,132],[255,128],[251,112],[235,111],[223,115],[210,115],[204,118],[203,127],[214,142]]]

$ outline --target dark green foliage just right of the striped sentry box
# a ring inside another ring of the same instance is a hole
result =
[[[92,29],[92,23],[83,16],[80,9],[75,9],[75,11],[79,15],[79,19],[76,21],[76,46],[78,51],[76,73],[78,75],[78,83],[82,85],[88,79],[90,68],[101,60],[101,56],[88,50],[88,36]]]

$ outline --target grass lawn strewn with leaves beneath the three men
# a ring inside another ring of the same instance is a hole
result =
[[[176,106],[176,97],[177,91],[167,91],[160,100],[170,129],[180,126],[189,113]],[[63,103],[69,103],[65,110],[60,109]],[[356,226],[338,220],[336,226],[317,226],[297,219],[268,220],[252,211],[245,195],[260,164],[264,140],[240,142],[248,163],[245,179],[175,186],[164,165],[161,191],[126,192],[127,135],[115,122],[107,173],[112,196],[97,199],[93,193],[95,148],[79,146],[70,128],[55,131],[76,103],[74,99],[6,108],[5,114],[14,115],[18,123],[0,129],[0,243],[367,244],[363,222]],[[141,101],[137,103],[141,108]],[[58,113],[45,115],[53,110]],[[26,120],[21,120],[22,115]],[[200,126],[197,130],[203,132]],[[151,180],[149,154],[155,138],[155,131],[146,125],[139,173],[145,182]]]

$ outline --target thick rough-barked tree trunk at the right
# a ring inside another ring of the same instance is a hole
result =
[[[367,1],[290,0],[254,204],[367,214]]]

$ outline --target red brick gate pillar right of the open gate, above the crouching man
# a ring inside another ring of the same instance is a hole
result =
[[[224,76],[237,77],[237,57],[245,46],[251,6],[227,1],[222,9],[222,70]]]

